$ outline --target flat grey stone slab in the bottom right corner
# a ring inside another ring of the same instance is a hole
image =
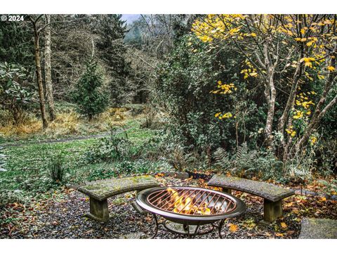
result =
[[[298,239],[337,239],[337,221],[303,218]]]

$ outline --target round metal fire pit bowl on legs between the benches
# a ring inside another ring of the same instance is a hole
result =
[[[138,193],[136,203],[154,216],[156,231],[152,238],[157,235],[159,225],[189,237],[211,233],[216,227],[221,238],[225,219],[246,211],[246,205],[237,197],[196,187],[149,188]],[[159,223],[157,215],[164,217],[165,221]],[[217,221],[220,221],[218,225]],[[178,224],[183,226],[183,230],[177,228]],[[199,227],[206,224],[211,224],[211,229],[200,232]]]

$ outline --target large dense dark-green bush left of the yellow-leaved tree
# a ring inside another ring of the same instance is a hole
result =
[[[265,115],[255,113],[256,103],[249,99],[256,89],[248,94],[239,64],[240,59],[232,51],[220,50],[187,34],[157,71],[155,99],[170,116],[174,136],[171,141],[182,144],[187,152],[206,154],[209,163],[216,148],[230,150],[237,143],[248,141],[251,132],[264,124]],[[212,93],[220,80],[235,82],[236,93],[231,96]],[[237,117],[222,120],[215,117],[216,113],[233,108]],[[249,146],[255,146],[258,138],[251,136]]]

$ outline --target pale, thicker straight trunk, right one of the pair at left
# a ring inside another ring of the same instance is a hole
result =
[[[51,15],[46,14],[46,25],[51,22]],[[53,98],[53,84],[51,82],[51,25],[47,25],[44,30],[44,80],[46,82],[46,102],[51,121],[56,118]]]

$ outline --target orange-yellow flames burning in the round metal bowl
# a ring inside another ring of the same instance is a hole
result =
[[[169,206],[171,205],[173,207],[173,212],[180,214],[211,214],[211,209],[207,207],[208,203],[203,202],[203,200],[198,201],[195,195],[191,196],[187,194],[183,196],[179,195],[179,193],[172,188],[168,188],[167,190],[171,193]]]

